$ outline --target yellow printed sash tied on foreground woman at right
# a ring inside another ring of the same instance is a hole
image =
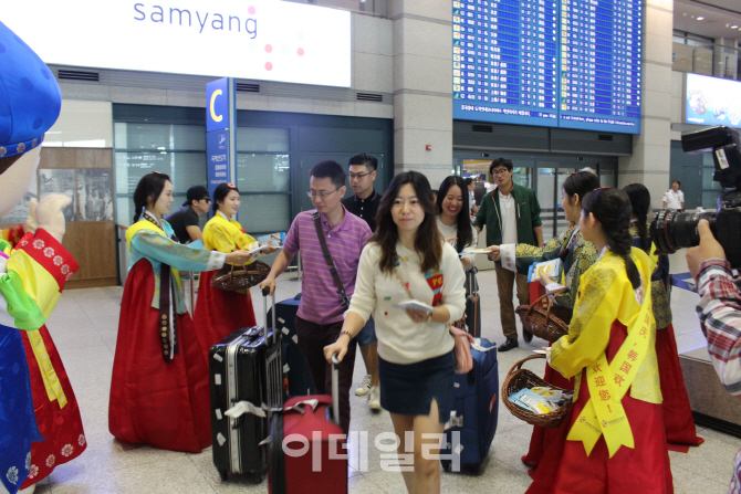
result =
[[[582,441],[587,456],[602,434],[605,434],[609,458],[622,445],[635,446],[622,400],[649,350],[651,297],[646,290],[644,294],[638,317],[613,361],[607,364],[607,357],[602,354],[597,362],[586,369],[589,400],[566,439]]]

